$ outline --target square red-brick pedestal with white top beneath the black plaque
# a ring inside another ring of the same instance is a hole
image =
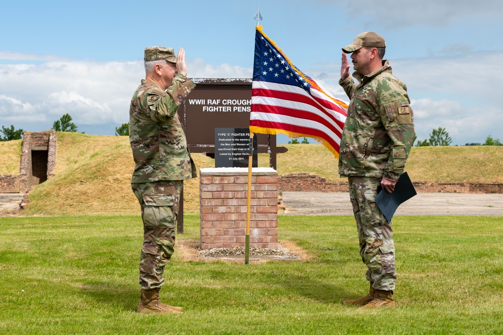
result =
[[[200,169],[201,249],[244,247],[247,168]],[[278,248],[278,173],[253,168],[250,247]]]

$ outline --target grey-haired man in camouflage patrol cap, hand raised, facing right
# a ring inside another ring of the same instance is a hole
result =
[[[131,187],[141,206],[144,240],[140,253],[140,313],[179,314],[182,307],[161,303],[164,267],[175,247],[183,180],[196,167],[177,110],[196,87],[187,78],[185,51],[145,48],[145,79],[129,109],[129,141],[135,168]]]

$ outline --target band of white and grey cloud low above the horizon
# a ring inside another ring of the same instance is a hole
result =
[[[418,138],[446,128],[454,144],[503,139],[503,107],[495,98],[494,79],[503,73],[503,52],[463,57],[392,59],[393,73],[407,84]],[[192,78],[249,78],[252,69],[212,65],[188,59]],[[340,64],[303,69],[342,99]],[[320,68],[322,70],[320,70]],[[127,122],[131,95],[144,78],[143,63],[51,61],[39,65],[0,65],[0,125],[29,131],[48,130],[68,113],[79,131],[113,135]],[[320,78],[322,78],[320,80]]]

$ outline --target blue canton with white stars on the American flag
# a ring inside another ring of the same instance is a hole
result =
[[[311,84],[300,76],[299,69],[290,66],[285,57],[259,31],[255,33],[253,80],[293,85],[309,92]],[[309,78],[304,74],[306,78]]]

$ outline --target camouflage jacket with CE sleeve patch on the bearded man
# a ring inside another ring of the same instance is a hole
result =
[[[414,137],[413,112],[403,82],[391,74],[388,61],[363,76],[340,80],[351,99],[339,153],[341,177],[360,176],[397,181]]]

